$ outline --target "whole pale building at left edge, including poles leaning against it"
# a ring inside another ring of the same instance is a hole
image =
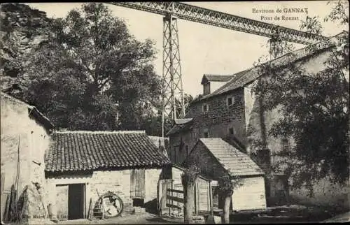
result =
[[[35,193],[27,196],[24,216],[29,222],[47,217],[42,202],[35,198],[38,192],[31,187],[45,183],[44,154],[52,128],[50,120],[34,106],[1,92],[1,222],[13,218],[8,212],[11,204],[28,186]]]

